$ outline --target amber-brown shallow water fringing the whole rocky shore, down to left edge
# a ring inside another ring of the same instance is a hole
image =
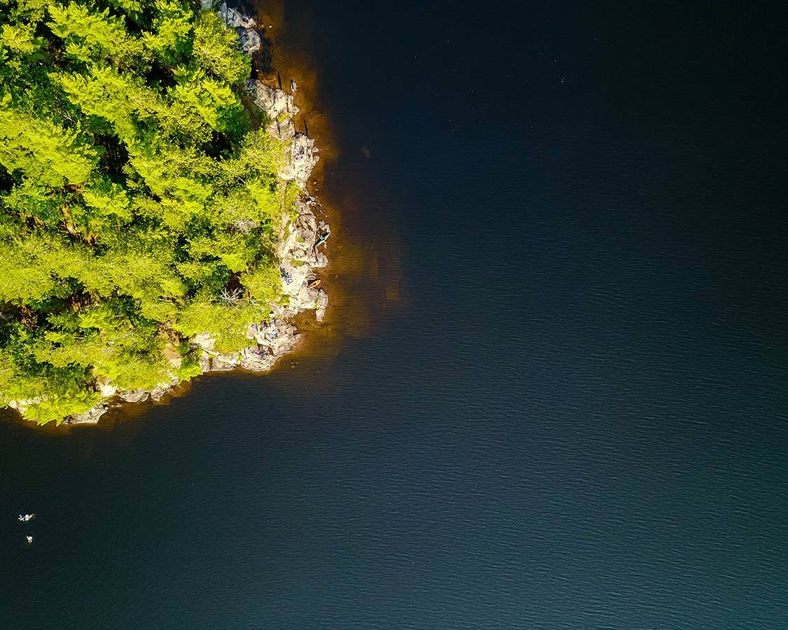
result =
[[[371,211],[381,203],[375,196],[377,186],[370,187],[377,154],[373,148],[373,161],[370,161],[370,155],[364,151],[366,147],[361,146],[364,141],[356,144],[356,139],[343,136],[342,120],[326,115],[325,112],[343,111],[342,102],[341,98],[336,102],[336,95],[332,97],[324,91],[325,86],[318,84],[319,53],[311,41],[310,27],[304,28],[303,22],[297,20],[292,23],[287,20],[281,0],[260,0],[250,7],[251,11],[255,8],[260,35],[268,40],[271,61],[269,72],[255,72],[255,76],[269,87],[278,87],[278,76],[283,85],[290,77],[298,82],[293,102],[299,113],[293,117],[293,123],[296,130],[308,131],[310,139],[315,139],[321,158],[307,180],[307,194],[319,199],[320,205],[314,213],[331,225],[332,232],[328,265],[317,270],[330,297],[325,320],[318,323],[308,311],[292,317],[299,339],[265,372],[289,379],[291,369],[296,367],[318,372],[331,370],[349,341],[376,335],[378,324],[407,308],[407,293],[403,292],[401,283],[399,230],[396,224],[386,220],[385,214]],[[267,29],[269,24],[273,28]],[[264,34],[263,28],[266,28]],[[205,372],[171,385],[167,391],[159,392],[155,400],[148,396],[143,404],[106,398],[102,404],[108,409],[89,423],[37,425],[11,409],[0,410],[0,420],[25,424],[53,435],[67,435],[72,428],[80,426],[108,428],[137,421],[156,406],[166,406],[176,398],[191,395],[192,387],[200,387],[214,376],[254,383],[251,377],[259,378],[262,373],[243,366]]]

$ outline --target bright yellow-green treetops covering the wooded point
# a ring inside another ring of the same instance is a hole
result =
[[[293,183],[199,2],[0,0],[0,406],[44,423],[100,384],[199,373],[280,298]]]

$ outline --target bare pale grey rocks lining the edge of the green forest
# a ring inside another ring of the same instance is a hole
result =
[[[203,8],[216,7],[210,0],[203,0]],[[252,57],[254,65],[255,56],[262,46],[255,19],[225,3],[216,9],[225,24],[236,29],[240,46]],[[292,82],[290,87],[294,92],[296,83]],[[250,341],[254,339],[257,345],[240,352],[218,353],[214,350],[215,339],[208,332],[192,337],[189,341],[199,349],[203,373],[234,369],[268,372],[299,342],[300,335],[293,322],[294,317],[303,311],[314,310],[317,321],[323,321],[329,304],[329,296],[320,287],[322,281],[316,276],[315,270],[328,265],[328,258],[319,248],[325,247],[330,227],[316,216],[315,210],[319,209],[319,204],[306,192],[310,174],[318,162],[318,147],[314,146],[314,139],[296,132],[293,117],[299,110],[293,103],[292,94],[269,87],[258,79],[247,80],[245,88],[255,104],[266,112],[270,121],[267,128],[269,134],[287,145],[279,176],[284,181],[294,180],[303,192],[296,201],[296,213],[282,214],[277,256],[280,261],[282,294],[287,298],[285,303],[271,305],[268,321],[251,324],[247,338]],[[157,402],[180,383],[180,380],[173,380],[159,384],[153,390],[131,391],[117,391],[110,382],[99,383],[97,388],[103,396],[102,402],[87,413],[66,418],[64,424],[96,424],[113,403],[145,402],[148,398]],[[24,403],[17,405],[17,409],[22,406]]]

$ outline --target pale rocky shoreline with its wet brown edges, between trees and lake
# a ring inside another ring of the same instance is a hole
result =
[[[189,342],[194,344],[200,353],[202,373],[188,380],[173,380],[163,383],[153,390],[131,390],[118,392],[111,384],[100,385],[102,394],[106,394],[98,405],[78,416],[65,418],[59,426],[72,427],[80,425],[95,426],[102,417],[110,413],[111,417],[135,416],[132,409],[137,403],[151,402],[154,405],[167,404],[170,398],[184,395],[191,390],[193,384],[204,376],[217,372],[238,372],[262,375],[271,372],[281,365],[281,359],[293,354],[303,346],[304,324],[309,332],[322,327],[329,296],[325,285],[329,284],[329,258],[325,255],[325,246],[331,235],[331,226],[326,219],[333,218],[335,212],[326,213],[325,207],[318,201],[316,192],[321,187],[323,169],[314,172],[318,165],[321,149],[315,146],[314,137],[304,132],[297,132],[295,118],[299,114],[296,106],[298,84],[293,83],[295,90],[286,91],[280,87],[270,87],[267,83],[277,82],[280,76],[273,69],[275,78],[266,78],[262,69],[255,68],[255,54],[267,46],[266,53],[270,56],[277,51],[276,44],[267,37],[265,20],[260,20],[260,12],[255,17],[240,13],[228,7],[225,2],[217,5],[210,0],[203,0],[203,7],[213,6],[229,28],[235,28],[239,35],[242,50],[252,58],[255,78],[248,79],[244,91],[255,105],[266,111],[269,118],[267,131],[274,138],[286,143],[285,161],[280,170],[280,178],[284,183],[295,181],[299,187],[294,213],[283,213],[277,258],[282,279],[282,295],[284,302],[271,305],[268,321],[251,324],[247,339],[254,339],[257,344],[244,348],[239,352],[220,354],[214,351],[214,339],[209,333],[195,335]],[[258,24],[259,22],[259,24]],[[270,24],[270,23],[269,23]],[[261,38],[262,35],[262,38]],[[296,69],[297,72],[297,69]],[[300,74],[300,73],[299,73]],[[279,80],[281,83],[281,80]],[[290,78],[286,87],[291,87]],[[303,89],[301,91],[303,95]],[[298,98],[303,102],[303,98]],[[313,173],[314,172],[314,173]],[[314,179],[313,179],[314,178]],[[319,213],[316,214],[314,210]],[[320,248],[320,249],[318,249]],[[306,313],[314,311],[314,317]],[[295,367],[297,360],[293,361]],[[143,411],[147,406],[139,405]],[[13,416],[24,421],[21,413],[13,407],[9,408]],[[24,424],[30,424],[24,421]]]

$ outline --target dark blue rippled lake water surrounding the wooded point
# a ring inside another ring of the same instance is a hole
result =
[[[286,2],[343,339],[0,423],[0,628],[788,627],[784,11],[558,4]]]

